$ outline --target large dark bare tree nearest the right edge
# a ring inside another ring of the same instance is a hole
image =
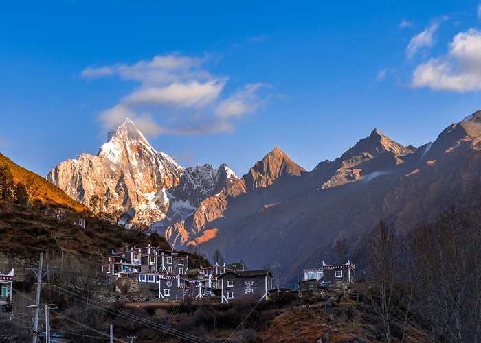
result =
[[[414,232],[418,303],[446,342],[479,342],[481,328],[480,224],[445,211]]]

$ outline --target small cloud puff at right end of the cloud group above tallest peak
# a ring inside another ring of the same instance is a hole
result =
[[[267,84],[248,84],[223,100],[216,108],[216,114],[221,118],[241,117],[254,112],[263,102],[258,97],[260,88],[269,87]]]

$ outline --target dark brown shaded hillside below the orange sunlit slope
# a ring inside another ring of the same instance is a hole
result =
[[[78,217],[85,219],[85,229],[71,222]],[[147,237],[137,231],[107,224],[97,217],[71,212],[67,213],[67,220],[56,220],[45,214],[42,208],[4,201],[0,202],[0,234],[0,252],[17,260],[36,260],[39,250],[60,255],[63,248],[76,259],[102,263],[98,257],[108,254],[111,249],[122,250],[149,242],[170,248],[165,239],[157,235]]]

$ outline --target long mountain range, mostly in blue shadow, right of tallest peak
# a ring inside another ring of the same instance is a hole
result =
[[[418,148],[374,129],[335,161],[323,161],[312,171],[278,147],[241,178],[226,165],[183,168],[172,161],[172,178],[163,174],[157,178],[161,182],[149,183],[142,192],[166,194],[167,206],[151,222],[177,248],[199,245],[208,256],[219,249],[227,261],[242,259],[249,268],[277,262],[292,277],[286,281],[293,281],[300,269],[330,259],[335,239],[346,238],[353,246],[379,220],[406,231],[466,196],[481,175],[480,139],[478,111]],[[153,150],[146,156],[156,161],[157,154]],[[63,175],[60,169],[52,171],[56,180]],[[91,177],[76,170],[73,180]],[[128,170],[128,177],[138,178],[135,169]],[[115,177],[120,175],[127,177],[125,172]],[[127,187],[128,193],[141,189],[142,182]],[[68,183],[59,186],[72,189]],[[88,189],[83,196],[91,196]]]

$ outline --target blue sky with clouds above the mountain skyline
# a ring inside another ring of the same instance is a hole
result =
[[[276,145],[312,169],[373,128],[422,145],[481,108],[478,4],[9,1],[0,152],[45,175],[126,115],[237,174]]]

